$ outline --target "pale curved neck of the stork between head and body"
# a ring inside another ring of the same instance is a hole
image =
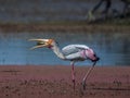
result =
[[[56,42],[53,44],[53,47],[51,47],[51,49],[60,59],[65,60],[65,56],[63,54],[62,50],[58,48]]]

